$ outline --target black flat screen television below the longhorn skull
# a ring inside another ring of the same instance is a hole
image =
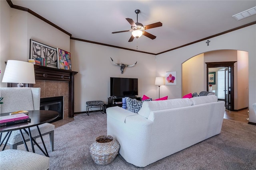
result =
[[[110,96],[124,97],[138,95],[138,78],[110,77]]]

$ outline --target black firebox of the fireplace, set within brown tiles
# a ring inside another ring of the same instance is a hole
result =
[[[41,98],[40,110],[53,110],[59,113],[58,117],[49,123],[63,119],[63,96]]]

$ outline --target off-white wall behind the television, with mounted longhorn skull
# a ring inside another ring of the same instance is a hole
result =
[[[154,85],[156,61],[153,55],[136,53],[83,41],[70,41],[73,71],[75,75],[75,112],[86,111],[86,101],[108,102],[110,77],[138,78],[138,96],[143,94],[156,98]],[[137,64],[124,68],[112,63]]]

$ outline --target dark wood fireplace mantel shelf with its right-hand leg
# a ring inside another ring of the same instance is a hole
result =
[[[78,72],[34,65],[36,80],[68,82],[68,117],[74,117],[74,75]]]

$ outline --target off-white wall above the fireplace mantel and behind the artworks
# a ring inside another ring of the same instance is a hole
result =
[[[30,57],[30,39],[54,48],[59,47],[66,51],[70,51],[69,35],[52,27],[28,12],[10,8],[6,1],[0,2],[1,31],[6,31],[3,34],[1,33],[1,42],[3,42],[1,43],[0,59],[2,73],[4,73],[5,70],[4,61],[10,59],[28,61]],[[2,14],[2,12],[4,14]],[[4,19],[2,20],[2,18]],[[2,22],[4,24],[2,24]],[[6,49],[4,47],[6,47]],[[1,74],[1,82],[2,75],[3,74]],[[6,87],[7,83],[1,83],[1,86]]]

